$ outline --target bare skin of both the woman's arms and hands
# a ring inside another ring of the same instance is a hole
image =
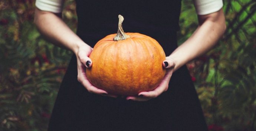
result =
[[[83,42],[81,38],[70,30],[60,16],[60,14],[42,11],[36,8],[34,21],[37,28],[46,39],[74,52],[78,62],[78,81],[88,92],[103,96],[117,97],[108,94],[105,90],[98,89],[89,82],[86,77],[85,68],[92,66],[92,61],[88,57],[92,52],[92,47]],[[127,96],[127,100],[147,101],[167,91],[173,72],[213,48],[226,30],[225,17],[222,9],[215,13],[198,15],[198,23],[198,27],[193,35],[163,61],[163,67],[167,69],[167,72],[160,85],[153,91],[141,92],[138,96]],[[87,61],[91,61],[89,66],[86,66]],[[165,67],[164,62],[168,62],[167,67]]]

